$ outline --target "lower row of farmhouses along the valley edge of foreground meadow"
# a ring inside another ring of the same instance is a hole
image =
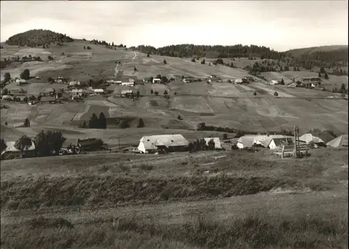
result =
[[[212,140],[214,142],[214,149],[223,149],[221,139],[219,137],[203,137],[205,143],[208,146]],[[340,135],[335,139],[325,143],[320,137],[315,137],[311,133],[306,133],[299,137],[301,144],[313,144],[314,148],[320,146],[327,146],[332,148],[348,148],[348,135]],[[82,151],[94,151],[98,142],[96,138],[89,139],[77,139],[76,144],[71,142],[65,142],[61,149],[61,154],[73,153],[74,148],[78,153]],[[286,144],[294,144],[295,140],[292,136],[285,135],[244,135],[236,139],[226,139],[224,141],[230,142],[232,146],[237,149],[264,147],[271,151],[277,151],[281,146]],[[17,153],[17,157],[22,156],[21,151],[15,148],[15,141],[6,142],[6,149],[1,153],[1,158],[6,157],[6,153],[10,153],[12,156]],[[140,143],[137,148],[133,148],[133,153],[170,153],[187,151],[189,146],[188,140],[181,134],[172,135],[149,135],[140,139]],[[35,156],[35,144],[32,140],[31,146],[24,150],[25,157]],[[65,151],[65,153],[64,153]]]

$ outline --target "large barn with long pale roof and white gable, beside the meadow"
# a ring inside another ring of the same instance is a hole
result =
[[[140,139],[138,150],[142,153],[184,151],[188,144],[188,140],[180,134],[144,136]]]

